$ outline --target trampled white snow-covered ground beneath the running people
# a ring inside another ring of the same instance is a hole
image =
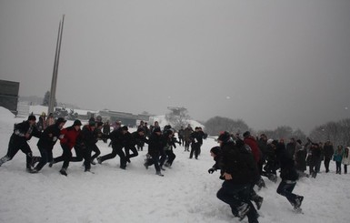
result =
[[[14,123],[22,120],[0,107],[0,157],[5,156]],[[29,144],[38,156],[36,142],[32,138]],[[118,158],[93,166],[95,174],[85,173],[82,163],[71,163],[68,177],[58,173],[62,164],[26,173],[25,155],[19,151],[0,167],[0,222],[239,222],[215,196],[222,183],[218,172],[207,173],[214,164],[209,154],[214,146],[214,139],[206,139],[198,160],[189,159],[184,147],[176,147],[173,167],[164,171],[165,177],[156,176],[154,167],[143,166],[147,147],[126,170],[119,168]],[[103,142],[98,147],[102,155],[111,151]],[[57,144],[54,157],[61,152]],[[330,173],[325,174],[324,167],[321,171],[316,178],[302,178],[295,187],[296,194],[305,196],[304,214],[296,214],[286,198],[276,194],[278,184],[265,178],[267,188],[258,192],[265,198],[259,222],[349,222],[350,175],[336,175],[333,161]]]

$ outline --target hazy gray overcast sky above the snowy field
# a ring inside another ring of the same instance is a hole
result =
[[[90,109],[254,129],[350,117],[350,1],[0,0],[0,79],[20,96],[50,89],[65,14],[56,98]]]

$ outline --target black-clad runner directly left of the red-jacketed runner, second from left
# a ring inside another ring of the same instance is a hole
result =
[[[31,170],[31,173],[39,172],[47,162],[53,162],[52,150],[61,135],[61,129],[65,126],[65,118],[58,117],[54,125],[46,127],[36,146],[39,148],[41,157],[39,163]]]

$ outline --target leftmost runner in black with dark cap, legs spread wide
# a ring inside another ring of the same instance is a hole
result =
[[[15,124],[14,133],[10,137],[8,149],[5,157],[0,158],[0,167],[7,161],[15,157],[15,154],[21,149],[26,157],[26,170],[28,172],[32,169],[32,163],[38,157],[33,157],[32,149],[29,147],[27,141],[32,137],[40,137],[41,132],[35,126],[36,117],[30,115],[26,121]]]

